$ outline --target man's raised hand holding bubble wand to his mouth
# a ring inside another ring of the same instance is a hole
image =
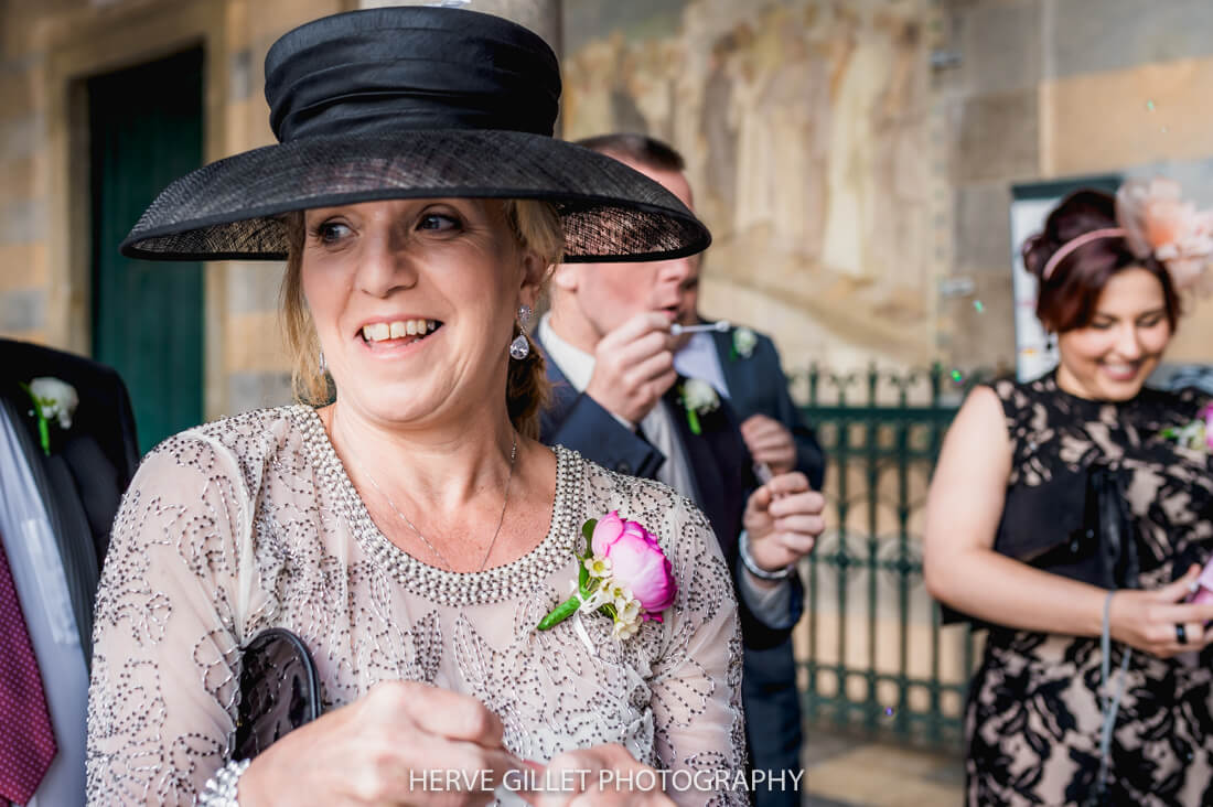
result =
[[[616,417],[639,424],[678,379],[672,345],[667,317],[636,314],[599,340],[586,394]]]

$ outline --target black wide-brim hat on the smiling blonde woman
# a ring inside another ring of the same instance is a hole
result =
[[[661,184],[552,137],[559,98],[552,49],[501,17],[402,6],[317,19],[266,56],[279,143],[170,184],[121,251],[281,260],[283,214],[428,198],[549,201],[570,262],[706,249],[707,228]]]

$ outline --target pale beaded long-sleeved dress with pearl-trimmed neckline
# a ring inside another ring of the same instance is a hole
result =
[[[268,627],[303,638],[325,709],[378,681],[423,681],[478,698],[522,758],[620,743],[660,769],[744,769],[736,603],[706,519],[665,485],[554,451],[547,536],[506,566],[452,573],[378,532],[311,408],[159,445],[123,501],[97,597],[90,803],[193,803],[229,752],[239,648]],[[625,640],[599,615],[535,631],[576,579],[582,522],[611,510],[644,524],[673,564],[665,621]]]

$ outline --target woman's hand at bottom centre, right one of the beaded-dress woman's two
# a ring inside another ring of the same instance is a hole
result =
[[[531,780],[551,789],[520,794],[535,807],[673,807],[661,775],[637,762],[622,745],[565,751]]]

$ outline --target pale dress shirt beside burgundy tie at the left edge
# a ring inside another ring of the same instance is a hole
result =
[[[0,409],[0,534],[25,630],[38,658],[58,751],[25,807],[85,803],[85,714],[89,674],[63,561],[51,522],[15,431]]]

